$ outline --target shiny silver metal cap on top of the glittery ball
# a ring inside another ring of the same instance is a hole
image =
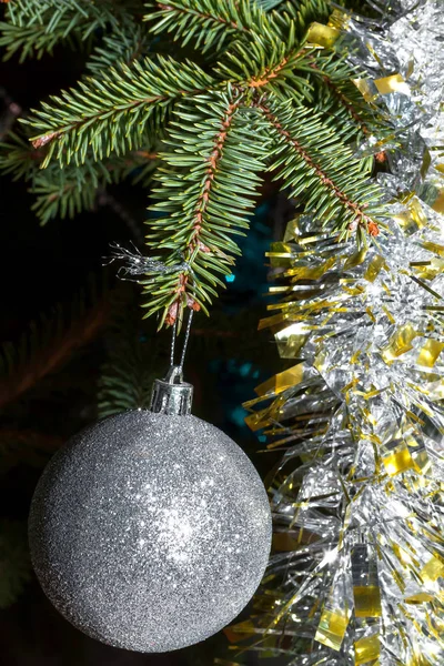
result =
[[[154,380],[150,411],[185,416],[191,412],[193,386],[183,381],[182,367],[172,365],[164,380]]]

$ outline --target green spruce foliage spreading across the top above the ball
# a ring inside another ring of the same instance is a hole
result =
[[[90,56],[77,87],[23,119],[47,178],[26,165],[32,157],[20,162],[23,147],[0,165],[32,174],[36,209],[47,221],[91,208],[113,181],[107,173],[133,174],[131,155],[157,152],[162,141],[148,246],[181,268],[141,281],[147,315],[155,313],[160,325],[188,307],[208,311],[266,170],[334,238],[356,234],[365,245],[384,229],[384,206],[369,182],[373,158],[354,154],[376,123],[382,128],[342,50],[311,41],[311,26],[326,24],[330,12],[324,0],[11,3],[1,37],[7,53],[39,56],[77,39]],[[30,29],[40,36],[34,41]],[[119,170],[129,158],[129,169]]]

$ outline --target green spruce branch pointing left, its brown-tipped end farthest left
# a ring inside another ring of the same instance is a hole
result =
[[[49,145],[44,168],[56,154],[61,165],[81,164],[89,151],[94,160],[137,148],[142,133],[157,134],[178,99],[214,85],[190,62],[172,58],[122,64],[101,79],[80,81],[78,89],[52,97],[52,104],[22,122],[39,130],[34,148]]]

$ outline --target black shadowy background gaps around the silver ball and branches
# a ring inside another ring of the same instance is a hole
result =
[[[81,56],[64,50],[56,50],[53,57],[40,61],[20,64],[14,58],[1,63],[0,128],[3,133],[14,115],[26,113],[60,88],[70,87],[81,71]],[[0,342],[17,344],[32,321],[42,314],[50,321],[56,304],[68,307],[81,287],[87,291],[88,302],[91,276],[100,284],[101,276],[105,275],[107,286],[99,289],[99,301],[107,301],[123,290],[133,307],[134,297],[129,292],[137,294],[139,287],[131,283],[118,284],[114,266],[103,268],[102,258],[110,254],[109,245],[113,241],[140,243],[147,218],[147,192],[130,184],[113,186],[98,201],[94,211],[74,220],[54,220],[43,228],[30,210],[33,198],[27,191],[27,183],[13,182],[3,175],[0,194]],[[196,391],[194,413],[235,438],[263,476],[274,458],[259,453],[263,450],[263,437],[258,438],[244,425],[241,403],[252,398],[254,386],[279,370],[270,334],[259,334],[256,325],[266,305],[264,251],[273,238],[282,238],[286,214],[275,190],[265,185],[248,243],[243,243],[244,256],[236,268],[234,282],[214,306],[213,323],[204,321],[203,315],[195,317],[186,365],[186,379]],[[98,384],[109,352],[107,331],[111,316],[109,313],[104,316],[103,325],[88,345],[80,345],[54,372],[31,383],[27,392],[8,402],[0,413],[2,427],[37,430],[48,438],[62,442],[94,421]],[[233,330],[230,330],[231,323]],[[142,322],[135,334],[147,345],[147,359],[153,350],[153,372],[161,373],[168,364],[169,335],[159,334],[163,337],[154,343],[152,324]],[[44,463],[44,460],[39,461]],[[19,456],[17,464],[8,468],[1,478],[2,518],[24,524],[41,464],[30,464],[26,456],[24,460]],[[0,575],[3,576],[3,572]],[[139,655],[104,646],[71,627],[46,599],[33,577],[18,601],[0,612],[0,650],[4,666],[206,666],[214,657],[258,663],[254,653],[238,658],[233,653],[230,656],[226,648],[223,634],[167,655]],[[272,666],[273,660],[266,663]]]

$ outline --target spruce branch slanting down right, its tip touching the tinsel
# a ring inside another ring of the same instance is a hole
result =
[[[340,238],[356,231],[359,243],[377,235],[385,209],[376,185],[369,183],[360,160],[306,109],[294,109],[262,98],[255,102],[275,137],[272,169],[300,196],[305,210],[324,224],[334,219]]]

